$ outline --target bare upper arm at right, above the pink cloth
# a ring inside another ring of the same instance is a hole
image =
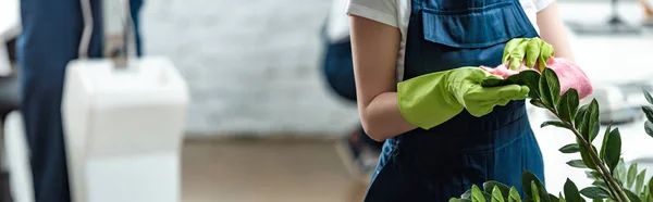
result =
[[[546,1],[546,0],[540,0]],[[555,49],[555,55],[564,58],[570,61],[576,61],[571,48],[569,47],[569,39],[565,25],[560,18],[557,2],[555,0],[549,0],[551,3],[538,12],[538,26],[540,27],[540,37],[542,40],[551,43]]]

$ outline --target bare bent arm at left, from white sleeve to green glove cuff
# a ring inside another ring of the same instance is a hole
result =
[[[350,15],[352,53],[362,127],[370,138],[382,141],[412,130],[399,112],[396,93],[398,28]]]

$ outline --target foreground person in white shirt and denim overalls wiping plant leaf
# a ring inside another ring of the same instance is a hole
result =
[[[385,140],[366,202],[443,202],[488,180],[522,190],[523,171],[544,181],[528,87],[483,87],[492,75],[479,66],[498,66],[514,38],[574,61],[555,0],[349,0],[346,11],[362,126]]]

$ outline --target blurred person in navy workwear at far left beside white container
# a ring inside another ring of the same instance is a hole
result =
[[[106,0],[108,1],[108,0]],[[89,58],[102,56],[102,1],[89,0],[94,31]],[[118,1],[116,1],[118,2]],[[143,0],[131,0],[136,30]],[[61,117],[65,66],[78,56],[84,29],[79,0],[21,0],[23,31],[17,41],[22,113],[30,150],[36,202],[70,202]],[[136,31],[137,52],[140,40]]]

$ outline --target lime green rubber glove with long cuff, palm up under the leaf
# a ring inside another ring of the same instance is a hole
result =
[[[485,79],[503,79],[479,67],[459,67],[415,77],[397,85],[399,110],[409,123],[430,129],[464,109],[480,117],[496,105],[528,97],[527,86],[482,87]]]

